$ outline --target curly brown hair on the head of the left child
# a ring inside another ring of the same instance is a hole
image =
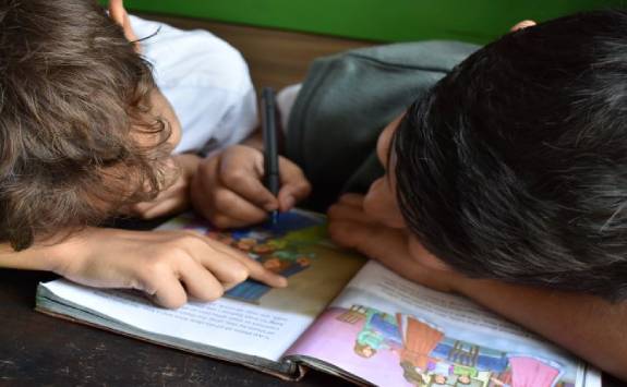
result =
[[[171,152],[155,89],[96,1],[0,0],[0,241],[23,250],[154,197]]]

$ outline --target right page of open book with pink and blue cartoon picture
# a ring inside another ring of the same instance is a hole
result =
[[[599,373],[568,352],[374,262],[288,355],[378,386],[600,386]]]

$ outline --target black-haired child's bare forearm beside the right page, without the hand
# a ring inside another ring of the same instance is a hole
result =
[[[469,279],[458,290],[627,380],[627,302],[492,280]]]

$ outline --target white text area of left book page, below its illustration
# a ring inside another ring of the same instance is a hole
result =
[[[136,292],[87,288],[65,280],[43,286],[59,298],[146,332],[272,361],[279,360],[313,321],[312,316],[264,310],[228,299],[190,302],[170,311],[155,306]]]

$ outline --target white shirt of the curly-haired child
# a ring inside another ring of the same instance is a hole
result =
[[[257,125],[256,95],[238,50],[206,31],[131,17],[142,55],[182,126],[176,153],[224,148]],[[160,28],[160,29],[159,29]]]

